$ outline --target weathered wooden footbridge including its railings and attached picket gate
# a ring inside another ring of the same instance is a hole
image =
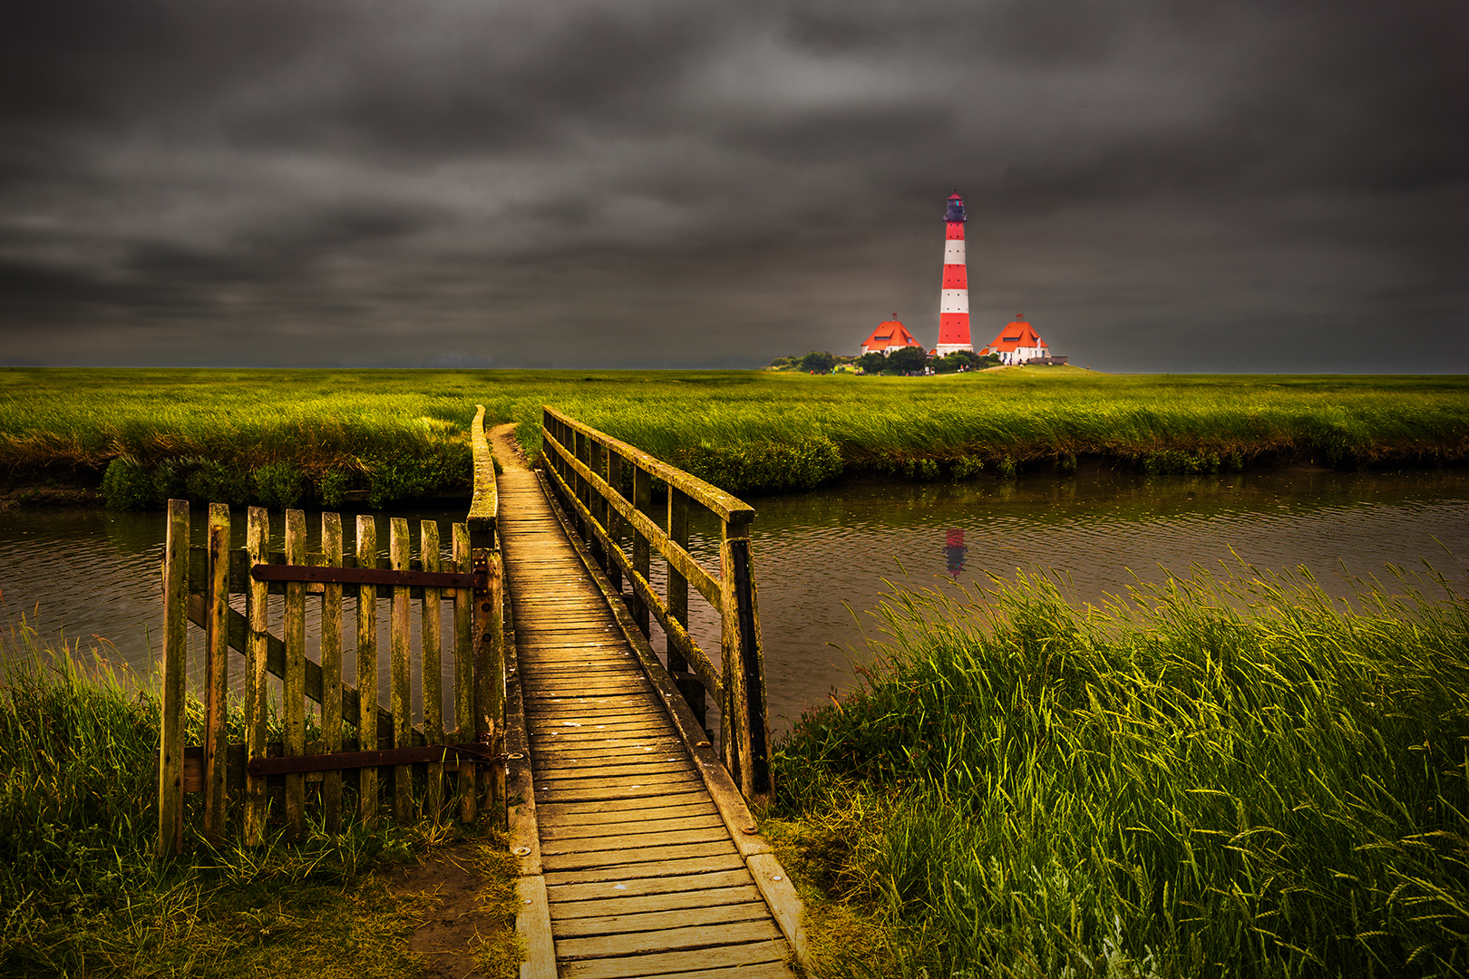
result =
[[[806,956],[802,907],[749,809],[771,793],[754,511],[551,408],[541,470],[519,462],[508,426],[495,436],[498,480],[482,408],[474,502],[454,527],[451,561],[441,562],[430,521],[420,558],[410,561],[401,520],[391,521],[389,558],[378,558],[372,517],[358,517],[354,561],[341,549],[335,514],[323,515],[322,550],[307,555],[300,511],[286,514],[285,550],[269,553],[259,508],[250,511],[247,547],[231,552],[228,508],[219,505],[210,508],[210,545],[191,555],[188,505],[170,503],[160,857],[181,847],[191,788],[204,793],[204,834],[219,835],[238,785],[247,842],[260,840],[270,818],[300,832],[317,797],[320,818],[335,828],[351,809],[344,787],[367,820],[385,801],[395,819],[473,819],[504,806],[521,865],[524,979],[793,976],[790,963]],[[649,515],[655,480],[665,520]],[[720,521],[717,575],[687,552],[692,506]],[[649,583],[654,552],[667,565],[664,594]],[[687,633],[690,584],[718,614],[718,663]],[[358,690],[378,685],[376,606],[391,600],[391,710],[342,681],[344,587],[357,593]],[[285,596],[281,640],[267,630],[272,590]],[[306,655],[303,625],[313,590],[322,594],[316,660]],[[229,608],[231,592],[247,594],[244,615]],[[422,608],[417,658],[408,649],[413,597]],[[451,729],[439,710],[445,599]],[[187,618],[206,630],[209,707],[204,744],[194,750],[182,743]],[[654,622],[667,663],[649,643]],[[229,647],[245,655],[242,746],[223,735]],[[410,724],[414,660],[419,727]],[[266,740],[267,674],[281,678],[284,694],[278,744]],[[710,699],[718,738],[705,727]],[[323,721],[322,737],[308,743],[313,702],[323,719],[345,724]]]

